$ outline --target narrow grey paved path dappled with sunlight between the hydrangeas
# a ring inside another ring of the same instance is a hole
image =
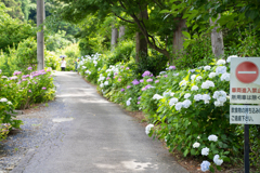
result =
[[[56,109],[50,111],[60,112],[52,120],[66,127],[63,137],[52,137],[51,143],[29,150],[12,172],[187,172],[159,141],[148,137],[142,125],[100,96],[80,76],[56,72]]]

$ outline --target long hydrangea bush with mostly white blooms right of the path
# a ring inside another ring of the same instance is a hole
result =
[[[243,125],[230,124],[229,63],[230,57],[196,69],[168,66],[158,76],[144,71],[142,79],[128,63],[104,63],[98,72],[98,90],[113,102],[144,111],[152,122],[146,134],[164,139],[170,151],[204,158],[202,170],[213,172],[243,155]],[[255,138],[259,129],[250,128]],[[257,158],[259,143],[253,143],[253,149]]]

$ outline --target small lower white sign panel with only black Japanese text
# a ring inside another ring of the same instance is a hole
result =
[[[230,105],[230,123],[260,124],[260,106]]]

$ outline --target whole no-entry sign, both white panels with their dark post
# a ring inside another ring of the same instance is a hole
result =
[[[245,124],[244,164],[249,173],[249,124],[260,124],[260,58],[231,57],[230,123]],[[257,104],[257,105],[248,105]]]

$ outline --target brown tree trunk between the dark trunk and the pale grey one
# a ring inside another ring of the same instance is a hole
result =
[[[183,42],[184,42],[184,36],[182,35],[182,31],[184,28],[186,27],[186,21],[182,19],[182,18],[177,18],[177,21],[179,21],[178,27],[174,31],[174,36],[173,36],[173,54],[178,54],[180,51],[183,50]],[[180,58],[180,57],[178,57]],[[173,62],[173,59],[171,58],[171,63]]]

